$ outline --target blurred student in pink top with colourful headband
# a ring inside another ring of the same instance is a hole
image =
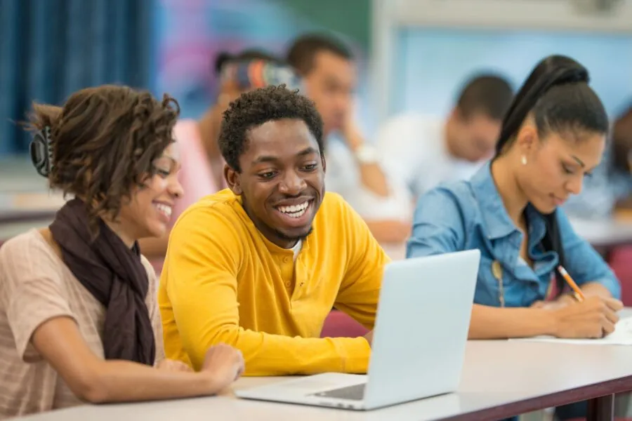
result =
[[[215,62],[220,89],[217,102],[199,120],[180,119],[173,129],[180,158],[185,163],[178,175],[183,197],[173,207],[171,225],[164,236],[140,240],[143,254],[159,274],[169,242],[173,222],[183,211],[202,197],[226,187],[224,161],[218,147],[223,112],[239,95],[270,84],[286,83],[298,88],[299,78],[291,67],[273,55],[259,50],[246,50],[237,55],[221,53]]]

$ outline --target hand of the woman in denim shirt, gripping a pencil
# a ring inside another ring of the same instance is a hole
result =
[[[621,309],[621,301],[597,295],[588,296],[583,302],[552,309],[555,317],[555,336],[603,338],[614,331],[614,324],[619,321],[617,312]]]

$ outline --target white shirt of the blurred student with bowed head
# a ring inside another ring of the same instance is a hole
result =
[[[397,116],[378,131],[378,154],[391,178],[404,183],[414,197],[442,182],[468,180],[483,162],[450,154],[445,142],[445,119],[419,114]]]

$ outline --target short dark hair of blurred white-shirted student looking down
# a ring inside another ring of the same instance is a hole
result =
[[[456,107],[465,119],[484,114],[490,119],[502,120],[512,99],[513,89],[507,79],[496,74],[478,74],[466,81]]]

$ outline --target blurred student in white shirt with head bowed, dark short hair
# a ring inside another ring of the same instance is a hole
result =
[[[447,119],[404,114],[378,132],[388,173],[414,198],[441,182],[468,180],[494,154],[513,91],[506,79],[480,74],[466,81]]]

